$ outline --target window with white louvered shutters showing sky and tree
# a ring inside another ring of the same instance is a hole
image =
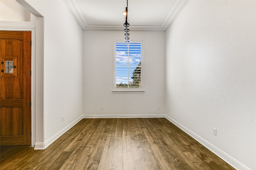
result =
[[[142,41],[115,42],[114,91],[142,90]],[[143,90],[142,90],[143,91]]]

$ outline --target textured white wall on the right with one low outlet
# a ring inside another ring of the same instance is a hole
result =
[[[255,9],[255,1],[190,1],[166,31],[166,114],[240,170],[256,170]]]

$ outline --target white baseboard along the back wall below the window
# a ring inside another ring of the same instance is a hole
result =
[[[151,117],[166,117],[166,115],[144,115],[144,114],[131,114],[131,115],[83,115],[83,118],[151,118]]]

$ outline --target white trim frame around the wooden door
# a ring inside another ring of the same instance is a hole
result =
[[[36,25],[34,27],[27,27],[26,25],[15,22],[16,26],[2,26],[1,31],[31,31],[31,147],[36,143]],[[8,21],[9,22],[9,21]],[[12,21],[14,22],[14,21]]]

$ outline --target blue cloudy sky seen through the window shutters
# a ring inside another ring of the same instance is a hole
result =
[[[116,84],[132,82],[133,72],[141,62],[141,43],[116,43]]]

